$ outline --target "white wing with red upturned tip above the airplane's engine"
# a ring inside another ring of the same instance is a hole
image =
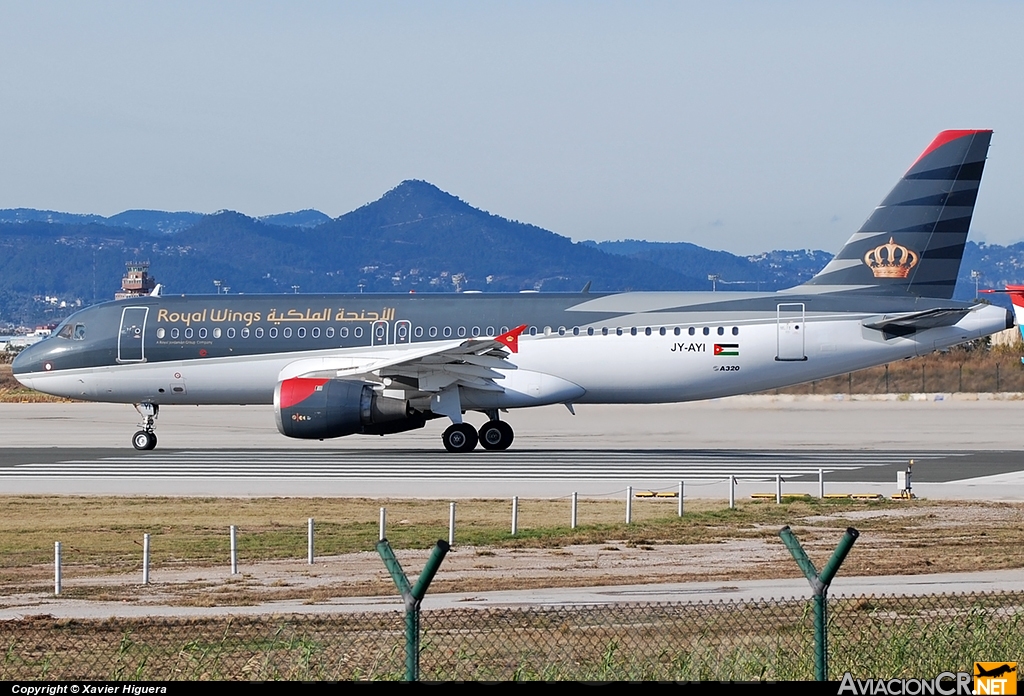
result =
[[[519,335],[526,324],[501,336],[462,341],[432,342],[429,347],[401,351],[305,358],[288,364],[279,381],[296,377],[353,379],[397,382],[396,388],[437,392],[452,385],[483,391],[502,391],[495,380],[503,379],[498,369],[515,369],[510,353],[519,352]],[[388,386],[389,383],[385,382]]]

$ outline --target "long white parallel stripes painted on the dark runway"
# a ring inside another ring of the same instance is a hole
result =
[[[958,454],[914,454],[926,461]],[[905,464],[905,454],[774,450],[520,450],[450,454],[438,451],[167,451],[25,464],[0,479],[80,478],[413,478],[413,479],[774,479]]]

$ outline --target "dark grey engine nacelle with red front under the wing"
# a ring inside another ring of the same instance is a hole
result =
[[[372,385],[351,380],[296,377],[279,382],[273,411],[283,435],[315,440],[400,433],[426,423],[409,401],[381,396]]]

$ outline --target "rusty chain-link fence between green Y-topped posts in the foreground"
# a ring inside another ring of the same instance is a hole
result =
[[[428,599],[429,603],[429,599]],[[424,680],[811,680],[805,600],[424,610]],[[831,598],[829,679],[1024,661],[1024,593]],[[0,680],[392,680],[401,611],[0,622]]]

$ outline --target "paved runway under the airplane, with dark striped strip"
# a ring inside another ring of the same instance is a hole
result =
[[[558,497],[674,490],[687,497],[915,492],[1024,499],[1013,398],[736,397],[649,406],[561,406],[508,416],[507,451],[451,454],[441,426],[397,436],[288,440],[268,407],[161,414],[158,449],[128,446],[131,406],[0,404],[0,487],[8,493]],[[475,417],[476,415],[471,415]],[[680,446],[685,443],[684,446]]]

